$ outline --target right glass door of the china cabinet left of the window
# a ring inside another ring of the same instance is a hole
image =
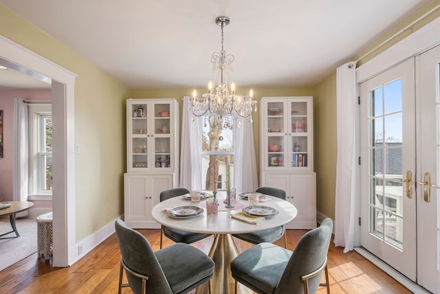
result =
[[[170,167],[171,162],[170,104],[155,104],[154,107],[154,168],[163,169]]]

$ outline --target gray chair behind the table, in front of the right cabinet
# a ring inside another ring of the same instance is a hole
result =
[[[256,192],[274,196],[286,200],[286,192],[283,189],[272,187],[259,187]],[[273,243],[284,235],[284,248],[287,249],[287,237],[285,234],[285,225],[274,227],[271,229],[265,229],[263,231],[256,231],[252,233],[233,234],[234,237],[243,241],[250,242],[252,244],[260,244],[263,242]]]

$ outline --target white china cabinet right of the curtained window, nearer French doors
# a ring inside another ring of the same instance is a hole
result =
[[[313,165],[313,98],[261,99],[261,186],[284,189],[298,215],[287,229],[316,227]]]

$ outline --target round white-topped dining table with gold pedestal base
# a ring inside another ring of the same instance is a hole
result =
[[[221,197],[221,196],[220,196]],[[217,197],[219,198],[219,197]],[[209,256],[215,262],[214,275],[212,277],[213,293],[234,293],[235,282],[231,275],[230,263],[239,255],[239,250],[232,238],[232,234],[250,233],[281,226],[296,217],[296,207],[288,201],[265,196],[265,202],[260,206],[270,207],[278,213],[272,217],[265,217],[257,224],[251,224],[243,220],[231,217],[231,214],[240,213],[243,207],[248,207],[248,200],[237,196],[234,208],[225,208],[223,199],[219,198],[219,211],[217,214],[206,213],[206,203],[191,202],[187,197],[177,196],[153,207],[151,213],[153,219],[165,227],[190,231],[194,233],[212,233],[214,242],[210,248]],[[203,209],[199,215],[191,218],[175,218],[168,213],[177,207],[197,206]],[[207,284],[196,289],[196,293],[208,293]],[[249,288],[239,284],[239,293],[253,293]]]

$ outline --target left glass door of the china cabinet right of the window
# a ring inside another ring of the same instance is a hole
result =
[[[267,103],[267,167],[285,167],[285,103]]]

